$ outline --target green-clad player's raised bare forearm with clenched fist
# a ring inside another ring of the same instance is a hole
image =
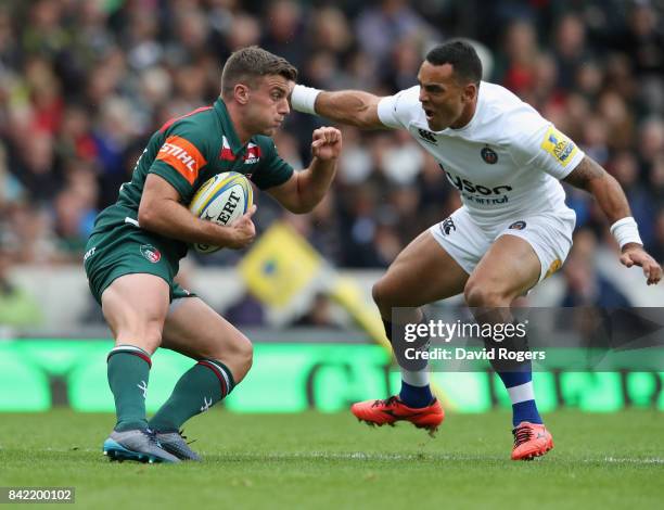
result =
[[[291,213],[309,213],[330,189],[336,173],[336,161],[341,154],[342,135],[339,129],[322,127],[314,131],[311,164],[295,171],[281,186],[270,188],[270,193]]]

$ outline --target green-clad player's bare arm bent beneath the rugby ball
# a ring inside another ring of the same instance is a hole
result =
[[[139,205],[139,226],[166,238],[234,250],[254,241],[256,228],[252,216],[255,205],[232,225],[224,227],[196,218],[179,201],[180,194],[173,186],[156,174],[149,174]]]

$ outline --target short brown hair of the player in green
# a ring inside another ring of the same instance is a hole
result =
[[[226,61],[221,72],[221,93],[230,94],[238,82],[253,86],[256,78],[280,75],[290,81],[297,80],[297,69],[282,56],[277,56],[257,46],[234,51]]]

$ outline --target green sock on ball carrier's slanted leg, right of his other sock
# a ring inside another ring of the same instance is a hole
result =
[[[173,394],[150,420],[150,429],[175,432],[191,417],[206,411],[228,395],[233,375],[222,362],[202,359],[177,382]]]

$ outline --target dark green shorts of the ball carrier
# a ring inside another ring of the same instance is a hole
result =
[[[84,268],[94,299],[101,305],[106,288],[116,278],[132,273],[163,278],[170,288],[170,301],[194,296],[174,282],[179,270],[179,256],[169,244],[131,224],[93,232],[86,245]]]

